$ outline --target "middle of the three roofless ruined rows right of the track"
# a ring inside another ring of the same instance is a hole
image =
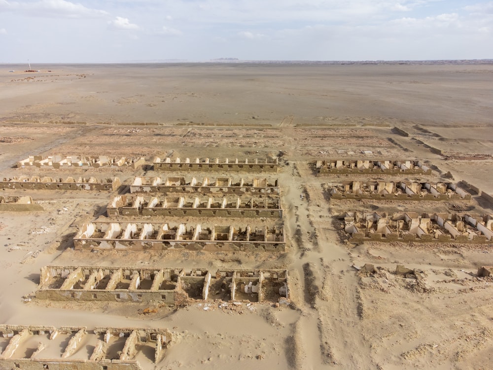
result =
[[[471,200],[471,194],[452,183],[347,181],[329,192],[332,199]]]

